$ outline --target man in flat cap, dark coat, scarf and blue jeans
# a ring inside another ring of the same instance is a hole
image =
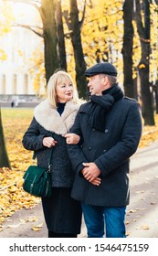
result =
[[[81,145],[68,145],[76,171],[71,196],[82,203],[88,237],[124,238],[129,158],[142,134],[140,108],[124,97],[111,63],[94,65],[86,76],[90,101],[81,105],[71,128]]]

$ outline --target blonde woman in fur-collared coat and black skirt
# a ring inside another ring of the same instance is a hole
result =
[[[70,197],[74,179],[67,144],[77,144],[79,136],[68,133],[79,110],[78,92],[65,71],[54,73],[47,83],[47,99],[34,111],[23,137],[27,150],[34,150],[37,165],[47,167],[50,149],[52,196],[42,198],[49,238],[76,238],[80,232],[81,207]]]

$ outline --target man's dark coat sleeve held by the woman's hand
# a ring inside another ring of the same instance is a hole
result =
[[[70,129],[70,133],[76,133],[80,136],[80,139],[82,138],[82,133],[80,129],[80,123],[79,123],[79,112],[76,116],[75,122]],[[82,140],[82,139],[81,139]],[[82,163],[87,163],[88,160],[83,155],[82,149],[81,149],[81,144],[67,144],[68,147],[68,155],[70,158],[70,161],[72,163],[72,166],[75,170],[76,173],[79,173],[80,170],[84,168]]]

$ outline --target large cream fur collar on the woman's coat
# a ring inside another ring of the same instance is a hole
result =
[[[60,116],[57,109],[53,108],[51,104],[45,100],[37,105],[34,110],[34,116],[37,123],[47,131],[65,135],[72,127],[78,111],[79,105],[73,101],[68,101],[65,105],[64,112],[62,112]]]

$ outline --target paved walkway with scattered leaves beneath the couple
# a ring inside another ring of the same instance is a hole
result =
[[[33,228],[39,229],[38,231]],[[158,237],[158,141],[139,149],[131,159],[131,203],[127,208],[129,238]],[[41,204],[17,211],[4,223],[1,238],[46,238]],[[86,237],[83,222],[79,237]]]

